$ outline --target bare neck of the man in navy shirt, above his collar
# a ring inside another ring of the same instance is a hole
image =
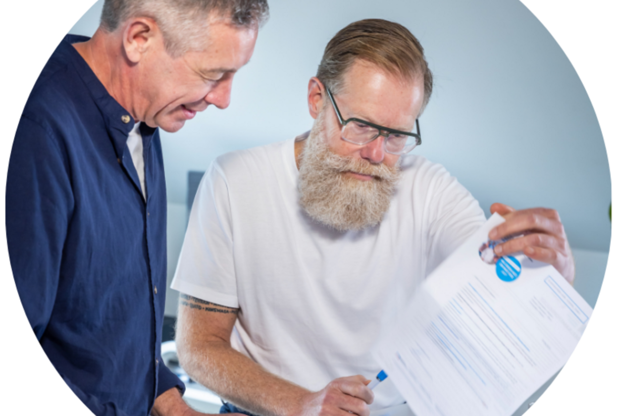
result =
[[[134,94],[131,94],[130,65],[122,53],[122,38],[115,32],[107,33],[100,27],[88,41],[75,43],[73,48],[101,81],[107,92],[135,119]]]

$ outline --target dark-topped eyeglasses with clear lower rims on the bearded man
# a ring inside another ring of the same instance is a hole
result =
[[[328,97],[332,104],[334,104],[334,112],[338,117],[339,122],[342,125],[341,138],[352,144],[358,144],[363,146],[371,141],[375,140],[379,136],[384,136],[384,142],[386,143],[386,152],[391,154],[405,154],[413,150],[418,144],[422,143],[420,138],[420,123],[416,119],[416,130],[418,133],[411,133],[410,131],[393,130],[392,128],[383,127],[375,123],[366,122],[360,119],[347,119],[343,120],[339,107],[334,101],[334,97],[330,92],[330,89],[326,87]]]

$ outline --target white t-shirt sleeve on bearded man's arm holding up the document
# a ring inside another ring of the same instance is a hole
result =
[[[429,170],[427,275],[486,222],[478,201],[442,165]]]

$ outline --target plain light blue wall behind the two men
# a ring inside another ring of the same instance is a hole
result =
[[[609,252],[612,177],[602,126],[576,68],[519,0],[270,0],[271,19],[234,81],[231,106],[162,132],[168,200],[218,154],[309,130],[305,94],[325,44],[354,20],[404,24],[426,49],[434,95],[415,150],[440,162],[484,210],[558,209],[574,248]],[[69,33],[91,35],[102,0]]]

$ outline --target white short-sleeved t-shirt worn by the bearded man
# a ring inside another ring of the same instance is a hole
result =
[[[370,349],[416,287],[484,223],[478,202],[441,165],[402,160],[376,227],[341,233],[298,202],[294,141],[218,157],[199,185],[172,288],[239,307],[231,345],[312,391],[374,378]],[[403,402],[389,379],[377,410]]]

